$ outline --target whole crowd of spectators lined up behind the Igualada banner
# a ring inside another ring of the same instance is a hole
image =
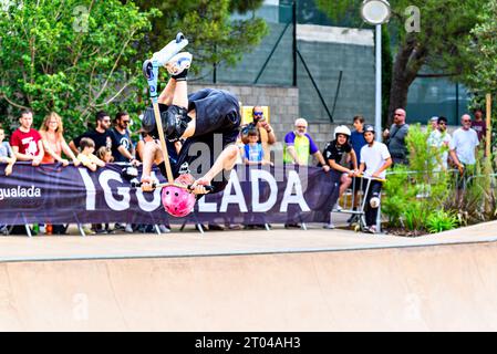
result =
[[[437,170],[447,170],[451,166],[457,168],[462,176],[468,177],[475,170],[478,146],[485,142],[486,124],[483,112],[476,111],[475,118],[465,114],[460,117],[460,127],[453,136],[447,132],[447,118],[432,117],[429,121],[431,134],[428,145],[441,150],[439,157],[434,160]],[[393,124],[383,132],[375,132],[374,126],[365,124],[363,116],[355,116],[352,125],[338,126],[321,152],[308,133],[309,123],[304,118],[294,121],[291,132],[282,137],[283,163],[298,166],[309,166],[313,158],[324,173],[339,175],[339,200],[348,190],[353,190],[352,210],[358,210],[359,194],[365,191],[366,231],[376,232],[376,217],[380,205],[382,185],[386,178],[386,170],[393,165],[407,165],[408,150],[406,137],[410,126],[406,124],[407,113],[398,108],[394,113]],[[6,164],[6,176],[15,170],[17,162],[28,162],[32,166],[44,164],[60,164],[62,167],[72,163],[80,168],[96,171],[110,163],[139,166],[143,160],[145,144],[153,143],[154,138],[143,131],[138,142],[133,142],[130,131],[131,117],[126,112],[118,112],[114,119],[101,111],[95,114],[95,127],[66,143],[62,117],[52,112],[43,119],[39,131],[32,127],[33,112],[23,110],[19,117],[20,126],[6,137],[6,131],[0,126],[0,163]],[[381,135],[384,143],[376,137]],[[271,147],[278,137],[275,129],[265,116],[261,106],[251,111],[251,122],[242,126],[238,139],[240,150],[239,163],[245,165],[273,166]],[[179,145],[177,145],[179,144]],[[169,144],[168,144],[169,145]],[[169,155],[174,156],[180,149],[180,143],[168,146]],[[367,183],[364,183],[367,180]],[[365,188],[367,186],[367,188]],[[342,207],[336,202],[333,211]],[[352,221],[354,215],[349,219]],[[263,223],[263,222],[261,222]],[[232,228],[232,226],[227,225]],[[1,227],[1,226],[0,226]],[[300,227],[289,220],[287,228]],[[159,226],[162,232],[168,232],[168,226]],[[330,214],[330,221],[324,228],[334,228]],[[136,230],[151,231],[151,226],[118,225],[110,228],[108,225],[92,225],[91,233],[113,233],[115,230],[134,232]],[[209,225],[209,229],[222,229],[218,225]],[[45,226],[46,233],[64,233],[62,226]]]

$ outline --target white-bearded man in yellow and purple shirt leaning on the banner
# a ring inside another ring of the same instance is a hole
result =
[[[330,166],[324,162],[323,155],[319,150],[312,137],[307,133],[308,122],[304,118],[296,121],[296,129],[284,136],[283,162],[308,166],[309,158],[315,156],[324,171],[330,170]]]

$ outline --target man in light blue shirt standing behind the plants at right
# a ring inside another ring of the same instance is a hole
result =
[[[476,156],[478,153],[478,134],[472,129],[472,117],[465,114],[460,117],[462,127],[454,132],[454,137],[451,142],[451,157],[459,170],[462,177],[457,186],[458,197],[459,192],[465,188],[465,180],[474,175],[476,166]]]

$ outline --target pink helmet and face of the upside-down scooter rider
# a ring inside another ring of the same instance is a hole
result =
[[[188,186],[194,181],[191,175],[182,175],[175,179],[175,184]],[[195,195],[177,186],[166,186],[162,191],[164,209],[176,218],[186,217],[195,206]]]

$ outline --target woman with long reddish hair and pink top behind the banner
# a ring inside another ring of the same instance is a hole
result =
[[[69,165],[69,160],[62,158],[62,153],[72,159],[74,166],[79,166],[80,162],[73,154],[68,143],[65,143],[62,136],[64,127],[62,118],[59,114],[52,112],[43,121],[40,128],[41,137],[43,138],[43,147],[45,155],[43,156],[42,164],[55,164],[61,163],[63,166]]]

